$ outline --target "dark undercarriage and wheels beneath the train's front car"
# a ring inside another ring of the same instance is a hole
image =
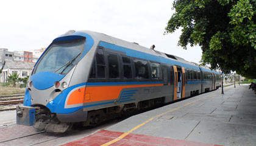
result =
[[[56,114],[51,113],[48,108],[44,106],[37,106],[34,128],[37,128],[40,131],[44,130],[47,133],[65,133],[66,131],[71,130],[73,124],[82,123],[84,127],[96,126],[99,125],[99,123],[115,119],[116,117],[130,116],[135,112],[142,111],[143,109],[163,105],[164,100],[165,97],[160,97],[157,99],[88,111],[87,120],[79,123],[60,122]]]

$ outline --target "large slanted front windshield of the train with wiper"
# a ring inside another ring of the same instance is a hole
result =
[[[77,63],[84,49],[85,38],[52,43],[40,59],[35,73],[67,74]]]

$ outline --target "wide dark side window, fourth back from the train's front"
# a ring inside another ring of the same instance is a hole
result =
[[[136,78],[149,78],[148,61],[134,59],[135,64],[135,77]]]

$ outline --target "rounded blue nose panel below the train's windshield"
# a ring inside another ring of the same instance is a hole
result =
[[[38,72],[31,76],[32,84],[35,88],[43,90],[54,86],[54,82],[62,80],[65,75],[54,72]]]

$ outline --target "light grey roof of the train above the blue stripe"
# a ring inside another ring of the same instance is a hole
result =
[[[190,64],[191,66],[194,66],[194,68],[199,69],[199,65],[196,64],[196,63],[192,63],[190,61],[187,61],[187,60],[185,60],[183,58],[180,58],[180,57],[177,57],[175,55],[165,54],[165,53],[160,52],[158,50],[154,50],[154,49],[150,49],[148,47],[140,46],[140,44],[138,44],[138,43],[131,43],[129,41],[124,41],[124,40],[121,40],[119,38],[115,38],[113,36],[106,35],[104,33],[93,32],[93,31],[90,31],[90,30],[79,30],[79,31],[76,31],[76,32],[87,33],[88,35],[92,36],[95,41],[104,41],[104,42],[114,44],[114,45],[117,45],[117,46],[126,47],[128,49],[133,49],[133,50],[137,50],[137,51],[140,51],[140,52],[144,52],[146,54],[155,55],[157,57],[163,57],[163,58],[173,60],[173,61],[177,61],[177,62],[180,62],[180,63]],[[205,67],[205,69],[210,70],[209,68],[206,68],[206,67]]]

